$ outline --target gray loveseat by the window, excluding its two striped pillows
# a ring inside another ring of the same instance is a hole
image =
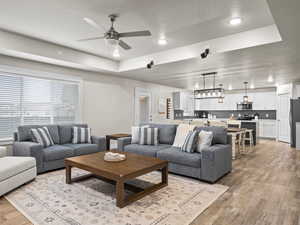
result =
[[[48,127],[54,145],[43,148],[31,138],[31,128]],[[18,127],[14,134],[13,154],[15,156],[32,156],[36,159],[37,172],[63,168],[64,159],[106,150],[104,137],[92,136],[92,143],[72,144],[72,127],[88,127],[87,124],[65,125],[26,125]]]

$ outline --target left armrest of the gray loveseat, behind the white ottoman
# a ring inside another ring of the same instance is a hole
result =
[[[43,146],[29,141],[15,141],[13,143],[14,156],[30,156],[36,160],[38,172],[43,170]]]

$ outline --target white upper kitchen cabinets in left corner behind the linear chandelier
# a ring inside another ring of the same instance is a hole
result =
[[[173,106],[175,110],[183,110],[184,116],[194,115],[194,94],[192,92],[174,92]]]

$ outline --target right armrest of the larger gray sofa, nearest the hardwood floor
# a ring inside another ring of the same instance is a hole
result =
[[[214,183],[232,170],[231,145],[212,145],[201,152],[201,179]]]

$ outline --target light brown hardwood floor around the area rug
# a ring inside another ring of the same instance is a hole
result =
[[[263,140],[218,183],[230,189],[192,225],[300,225],[300,151]],[[0,198],[1,225],[31,224]]]

